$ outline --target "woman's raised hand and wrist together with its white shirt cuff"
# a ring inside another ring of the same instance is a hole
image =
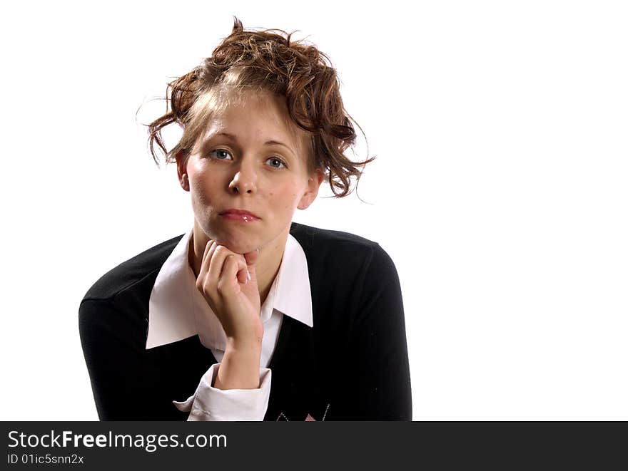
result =
[[[190,412],[188,420],[263,420],[270,395],[270,370],[260,368],[260,320],[255,261],[257,252],[240,255],[209,241],[196,288],[226,334],[222,363],[212,366],[194,395],[173,403]]]

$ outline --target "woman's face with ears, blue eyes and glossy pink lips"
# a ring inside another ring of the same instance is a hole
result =
[[[308,172],[306,139],[270,93],[246,93],[216,115],[188,160],[177,159],[196,225],[236,253],[283,249],[295,209],[322,181],[320,170]]]

